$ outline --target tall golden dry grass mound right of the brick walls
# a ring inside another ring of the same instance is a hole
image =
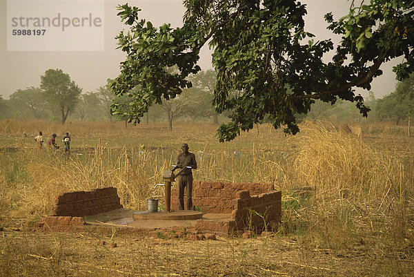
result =
[[[315,189],[293,217],[308,222],[304,231],[315,231],[328,247],[345,247],[355,234],[367,232],[412,240],[412,162],[374,150],[326,122],[302,124],[291,162],[290,180]]]

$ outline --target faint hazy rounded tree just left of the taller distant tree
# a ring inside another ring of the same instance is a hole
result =
[[[10,95],[10,106],[17,117],[34,117],[43,120],[48,117],[48,103],[40,88],[17,90]]]

